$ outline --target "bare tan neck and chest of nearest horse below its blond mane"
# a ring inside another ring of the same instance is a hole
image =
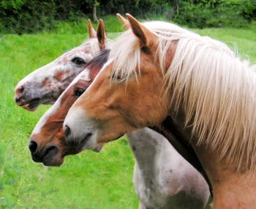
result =
[[[182,110],[169,111],[173,121],[183,127],[185,116]],[[192,127],[183,129],[183,137],[191,143],[197,157],[204,167],[213,186],[213,208],[254,208],[256,206],[256,176],[255,171],[237,172],[237,167],[220,158],[218,150],[213,150],[205,144],[198,145],[197,137],[192,136]]]

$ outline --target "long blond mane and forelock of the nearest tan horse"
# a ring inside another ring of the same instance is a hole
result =
[[[198,144],[218,150],[237,171],[255,169],[256,75],[248,61],[241,61],[224,43],[174,24],[145,22],[143,26],[158,37],[155,56],[166,93],[173,89],[176,111],[183,107],[185,127],[192,125]],[[164,66],[172,40],[177,41],[176,52],[171,65]],[[131,29],[122,33],[109,56],[114,60],[113,75],[121,73],[123,80],[131,73],[137,75],[140,54]]]

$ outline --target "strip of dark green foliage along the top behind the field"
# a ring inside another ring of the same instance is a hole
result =
[[[140,20],[174,20],[199,28],[245,27],[256,21],[255,0],[0,0],[0,34],[36,33],[55,29],[59,21],[92,20],[94,6],[103,20],[130,13]]]

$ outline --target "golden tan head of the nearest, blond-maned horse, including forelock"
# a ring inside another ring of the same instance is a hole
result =
[[[168,98],[162,91],[160,61],[155,56],[158,38],[131,15],[127,18],[126,25],[131,29],[117,38],[97,79],[66,116],[64,132],[68,144],[83,144],[86,149],[90,144],[93,149],[92,144],[118,139],[127,132],[159,124],[166,117],[169,104],[164,101]],[[166,62],[171,62],[175,47],[173,42]],[[86,100],[85,95],[94,96]],[[149,104],[155,104],[155,108]],[[81,132],[81,127],[86,127],[87,132]]]

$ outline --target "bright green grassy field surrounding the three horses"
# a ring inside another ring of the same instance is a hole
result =
[[[87,38],[83,24],[34,35],[4,35],[0,41],[0,208],[137,208],[131,183],[134,157],[125,138],[104,146],[101,153],[84,151],[68,156],[62,167],[43,167],[31,161],[29,135],[49,107],[28,112],[13,102],[17,82],[50,63],[66,49]],[[106,26],[107,29],[107,26]],[[234,43],[239,54],[256,64],[256,27],[251,29],[195,29]],[[118,33],[108,32],[109,38]]]

